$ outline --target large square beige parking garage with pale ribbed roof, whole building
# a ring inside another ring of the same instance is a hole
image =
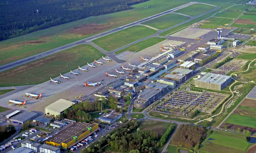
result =
[[[227,75],[220,75],[214,73],[207,73],[201,78],[193,78],[193,84],[196,87],[222,90],[231,82],[231,77]]]

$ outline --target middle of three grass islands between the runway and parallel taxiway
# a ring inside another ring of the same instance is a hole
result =
[[[160,30],[164,30],[178,23],[186,21],[188,19],[189,17],[179,15],[179,14],[166,14],[158,18],[155,18],[153,20],[143,22],[142,24],[145,24]]]

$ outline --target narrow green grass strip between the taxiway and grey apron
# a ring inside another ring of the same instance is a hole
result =
[[[131,45],[129,47],[126,47],[124,49],[121,49],[119,51],[116,51],[115,54],[122,53],[124,51],[129,52],[139,52],[143,49],[146,49],[148,47],[151,47],[153,45],[156,45],[157,43],[160,43],[161,41],[165,40],[166,38],[159,38],[159,37],[152,37],[148,38],[146,40],[140,41],[139,43],[136,43],[134,45]]]

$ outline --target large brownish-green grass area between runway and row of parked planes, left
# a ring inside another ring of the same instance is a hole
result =
[[[0,87],[40,84],[84,66],[105,54],[91,45],[79,45],[22,66],[0,72]],[[85,60],[86,57],[86,60]]]

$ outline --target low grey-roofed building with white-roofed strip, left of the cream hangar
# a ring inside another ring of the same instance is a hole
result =
[[[7,120],[7,122],[11,122],[11,123],[17,123],[17,124],[24,124],[25,122],[27,122],[28,120],[33,120],[34,118],[36,118],[38,116],[37,113],[34,112],[28,112],[28,111],[24,111],[24,112],[20,112],[20,111],[15,111],[11,114],[9,114],[8,117],[9,119]]]

